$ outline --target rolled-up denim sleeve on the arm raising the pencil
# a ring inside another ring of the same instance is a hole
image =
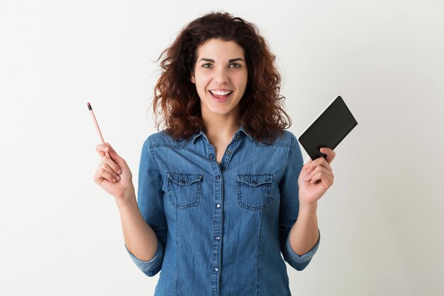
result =
[[[143,143],[138,178],[138,207],[143,219],[157,236],[157,250],[150,261],[141,261],[128,250],[126,245],[125,248],[135,265],[145,275],[153,276],[162,269],[167,241],[167,220],[163,208],[162,175],[155,163],[150,138]]]

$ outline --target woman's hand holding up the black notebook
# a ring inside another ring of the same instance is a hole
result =
[[[321,153],[326,154],[327,158],[320,157],[307,161],[299,174],[299,204],[301,205],[316,204],[333,185],[335,177],[330,164],[336,153],[330,148],[321,148]]]

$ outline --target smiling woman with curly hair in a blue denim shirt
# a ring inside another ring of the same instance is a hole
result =
[[[129,255],[162,269],[155,295],[290,295],[281,253],[302,270],[316,252],[335,153],[303,166],[274,55],[242,18],[197,18],[161,57],[165,130],[143,144],[137,201],[125,160],[96,146],[94,181],[116,199]]]

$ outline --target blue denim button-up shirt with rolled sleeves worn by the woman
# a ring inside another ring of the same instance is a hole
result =
[[[146,275],[162,270],[155,295],[291,295],[284,260],[303,270],[319,244],[302,256],[289,244],[302,166],[289,131],[267,145],[240,128],[220,164],[203,132],[185,141],[149,136],[138,207],[158,247],[150,261],[127,251]]]

